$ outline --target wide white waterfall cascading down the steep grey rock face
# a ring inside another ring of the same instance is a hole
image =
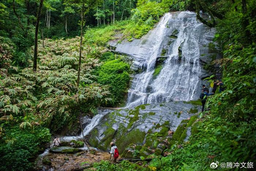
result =
[[[168,25],[169,24],[169,25]],[[169,27],[166,27],[168,25]],[[140,53],[146,58],[146,71],[135,75],[129,90],[127,107],[146,103],[162,103],[172,100],[192,100],[199,82],[199,39],[203,24],[197,21],[194,12],[167,13],[148,37],[153,40],[149,52]],[[157,78],[152,80],[155,63],[162,42],[168,30],[178,30],[168,48],[167,59]],[[182,59],[179,61],[178,47],[181,46]],[[148,92],[147,87],[151,90]]]

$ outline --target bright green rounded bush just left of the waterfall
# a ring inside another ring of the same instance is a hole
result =
[[[129,65],[120,60],[105,62],[98,71],[98,82],[109,85],[112,94],[112,105],[119,105],[124,99],[129,82]]]

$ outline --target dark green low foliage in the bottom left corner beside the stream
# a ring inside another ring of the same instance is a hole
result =
[[[8,125],[5,130],[0,140],[0,170],[29,170],[35,155],[50,141],[49,129],[21,130]]]

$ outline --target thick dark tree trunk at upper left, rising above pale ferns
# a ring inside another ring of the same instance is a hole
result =
[[[34,47],[34,62],[33,62],[33,71],[37,71],[37,43],[38,43],[38,28],[39,20],[41,16],[41,11],[43,7],[44,0],[40,0],[40,4],[37,11],[37,22],[35,23],[35,47]]]

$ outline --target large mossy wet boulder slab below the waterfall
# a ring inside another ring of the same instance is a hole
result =
[[[181,134],[199,109],[200,106],[184,101],[145,104],[128,109],[105,109],[109,113],[101,118],[86,138],[91,146],[102,150],[110,150],[110,142],[115,141],[120,153],[124,152],[122,157],[131,156],[125,154],[128,153],[126,148],[131,151],[131,145],[159,149],[162,152],[165,147],[184,140],[180,139]],[[172,140],[172,133],[168,131],[175,132],[181,124],[184,126],[177,133],[176,139]],[[184,135],[183,138],[187,133]],[[158,148],[161,143],[164,147]]]

